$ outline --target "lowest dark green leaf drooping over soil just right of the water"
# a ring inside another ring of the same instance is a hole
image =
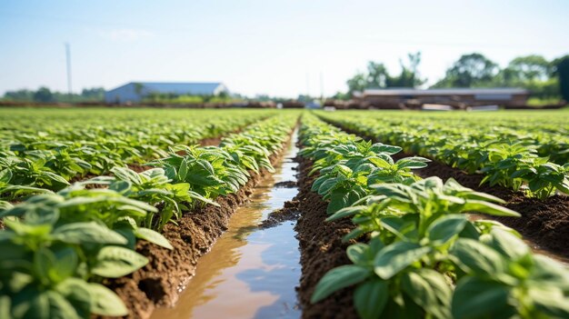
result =
[[[337,290],[362,282],[370,274],[368,269],[354,264],[336,267],[324,274],[316,284],[310,302],[315,304]]]

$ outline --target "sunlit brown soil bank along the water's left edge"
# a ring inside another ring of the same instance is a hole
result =
[[[282,151],[272,155],[271,163],[276,164],[282,156]],[[255,184],[270,174],[266,171],[250,173],[251,178],[239,192],[216,199],[219,207],[206,205],[186,212],[178,224],[165,225],[163,234],[174,250],[145,241],[137,242],[136,251],[150,262],[133,274],[105,281],[125,302],[129,309],[128,318],[148,318],[156,306],[175,304],[185,284],[195,274],[198,258],[207,253],[227,229],[230,216],[253,194]]]

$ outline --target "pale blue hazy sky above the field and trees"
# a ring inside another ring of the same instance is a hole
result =
[[[500,65],[569,54],[569,1],[0,0],[0,94],[131,81],[222,81],[245,95],[346,89],[367,61],[421,51],[434,83],[461,54]]]

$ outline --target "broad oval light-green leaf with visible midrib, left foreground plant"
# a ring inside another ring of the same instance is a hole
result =
[[[148,258],[134,250],[118,246],[105,246],[96,256],[91,272],[102,277],[118,278],[148,264]]]

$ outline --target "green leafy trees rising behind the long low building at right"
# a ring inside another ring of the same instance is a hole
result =
[[[366,88],[424,85],[426,79],[418,70],[420,63],[420,52],[409,54],[406,60],[400,60],[401,72],[393,75],[383,63],[370,61],[366,72],[347,80],[348,92],[334,97],[347,99]],[[541,55],[519,56],[504,68],[479,53],[462,55],[446,70],[444,78],[430,87],[522,87],[541,101],[569,101],[569,55],[552,61]]]

